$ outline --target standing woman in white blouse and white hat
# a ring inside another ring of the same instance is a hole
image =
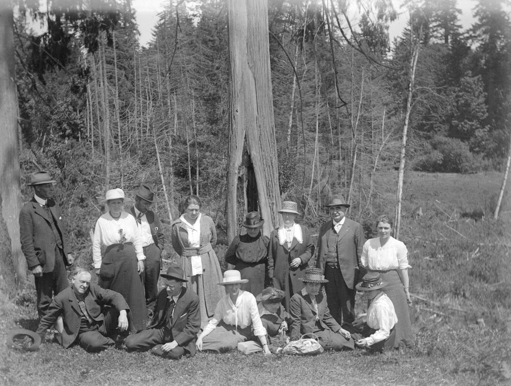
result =
[[[119,292],[129,305],[130,330],[146,328],[146,300],[140,274],[144,272],[144,251],[136,220],[123,211],[124,191],[106,192],[108,212],[96,222],[92,240],[92,261],[101,288]],[[101,255],[101,249],[104,254]]]

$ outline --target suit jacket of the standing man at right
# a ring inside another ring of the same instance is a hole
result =
[[[324,223],[319,229],[316,267],[321,268],[323,272],[327,261],[327,240],[332,229],[332,220]],[[350,289],[355,288],[361,274],[362,264],[360,258],[364,243],[365,237],[362,225],[346,218],[337,235],[337,259],[344,282]]]

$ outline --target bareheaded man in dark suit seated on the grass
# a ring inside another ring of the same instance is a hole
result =
[[[64,328],[56,339],[64,348],[77,342],[87,351],[100,351],[115,344],[111,338],[116,333],[115,322],[120,331],[128,328],[128,304],[120,293],[91,284],[90,279],[89,271],[75,269],[71,286],[55,296],[39,322],[39,335],[44,337],[44,332],[62,316]]]

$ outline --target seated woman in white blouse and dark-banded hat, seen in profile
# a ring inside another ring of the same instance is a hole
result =
[[[357,340],[355,344],[358,347],[382,352],[394,345],[396,338],[394,326],[398,322],[398,317],[392,301],[382,291],[386,285],[379,273],[368,272],[356,286],[357,290],[364,291],[365,297],[370,301],[367,322],[358,326],[354,322],[353,328],[349,328],[354,332],[353,338]]]

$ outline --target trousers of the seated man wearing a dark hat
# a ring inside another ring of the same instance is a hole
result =
[[[167,327],[149,328],[128,336],[126,338],[126,348],[133,351],[151,350],[156,355],[169,359],[180,359],[185,354],[183,347],[177,346],[170,351],[161,349],[165,343],[173,340],[172,332]]]

